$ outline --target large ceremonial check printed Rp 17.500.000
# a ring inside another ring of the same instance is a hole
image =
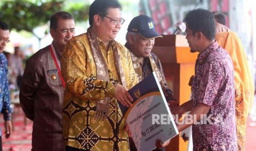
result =
[[[132,132],[137,150],[156,148],[156,140],[170,140],[178,134],[161,86],[153,72],[129,90],[133,104],[127,108],[119,103]]]

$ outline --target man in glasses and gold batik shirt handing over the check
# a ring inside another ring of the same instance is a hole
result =
[[[66,89],[63,135],[66,150],[129,150],[118,101],[127,107],[128,89],[138,83],[129,51],[114,38],[123,24],[116,0],[96,0],[87,32],[69,40],[61,68]]]

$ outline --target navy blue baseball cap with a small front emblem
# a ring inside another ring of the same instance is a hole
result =
[[[146,39],[162,37],[155,31],[154,21],[146,15],[139,15],[130,21],[127,31],[136,32]]]

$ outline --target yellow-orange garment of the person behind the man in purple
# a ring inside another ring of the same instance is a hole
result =
[[[215,39],[230,55],[235,74],[235,109],[238,150],[246,147],[246,119],[252,108],[254,85],[243,45],[235,32],[216,33]]]

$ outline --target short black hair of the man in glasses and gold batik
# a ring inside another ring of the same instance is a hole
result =
[[[101,14],[107,15],[107,9],[108,8],[119,8],[122,10],[121,4],[117,0],[95,0],[91,5],[90,5],[90,10],[89,10],[89,24],[90,26],[94,22],[94,15],[96,14]]]

